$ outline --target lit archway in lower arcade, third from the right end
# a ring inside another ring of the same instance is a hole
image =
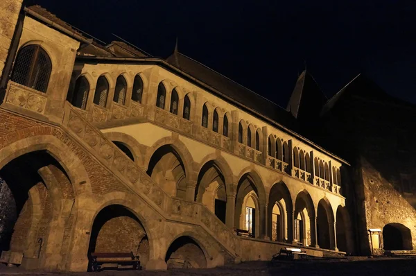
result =
[[[315,207],[309,193],[297,194],[293,213],[293,241],[304,246],[315,245]]]

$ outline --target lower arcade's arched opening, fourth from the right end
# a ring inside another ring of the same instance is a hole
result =
[[[272,186],[269,193],[268,233],[272,241],[288,241],[288,229],[291,227],[292,200],[284,182]]]

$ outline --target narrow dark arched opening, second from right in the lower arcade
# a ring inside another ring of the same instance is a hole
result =
[[[316,220],[318,230],[318,245],[324,249],[333,248],[333,213],[327,200],[321,199],[318,203],[318,218]]]

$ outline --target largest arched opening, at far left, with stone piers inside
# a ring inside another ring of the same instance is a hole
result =
[[[38,259],[37,265],[50,257],[46,252],[62,257],[73,222],[63,204],[73,202],[74,192],[60,163],[46,150],[16,157],[1,168],[0,189],[0,250]]]

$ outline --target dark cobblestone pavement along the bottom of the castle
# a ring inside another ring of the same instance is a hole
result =
[[[74,276],[152,276],[152,275],[416,275],[416,259],[377,258],[361,261],[291,261],[271,263],[268,261],[250,261],[239,265],[227,265],[211,269],[182,269],[167,271],[103,271],[100,273],[41,273],[24,271],[19,268],[1,267],[0,275],[74,275]]]

